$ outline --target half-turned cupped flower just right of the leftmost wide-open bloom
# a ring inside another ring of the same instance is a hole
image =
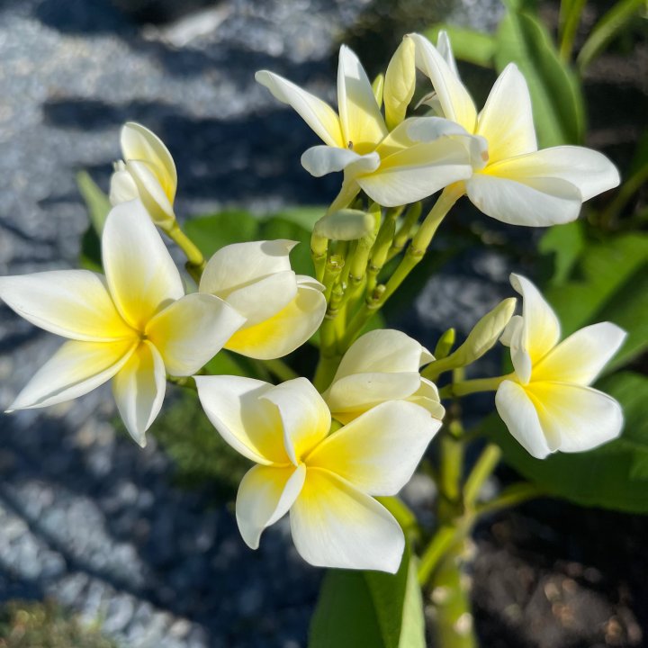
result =
[[[199,291],[220,297],[246,318],[225,348],[269,360],[301,347],[320,328],[324,286],[295,275],[289,257],[295,245],[283,239],[235,243],[211,257]]]

